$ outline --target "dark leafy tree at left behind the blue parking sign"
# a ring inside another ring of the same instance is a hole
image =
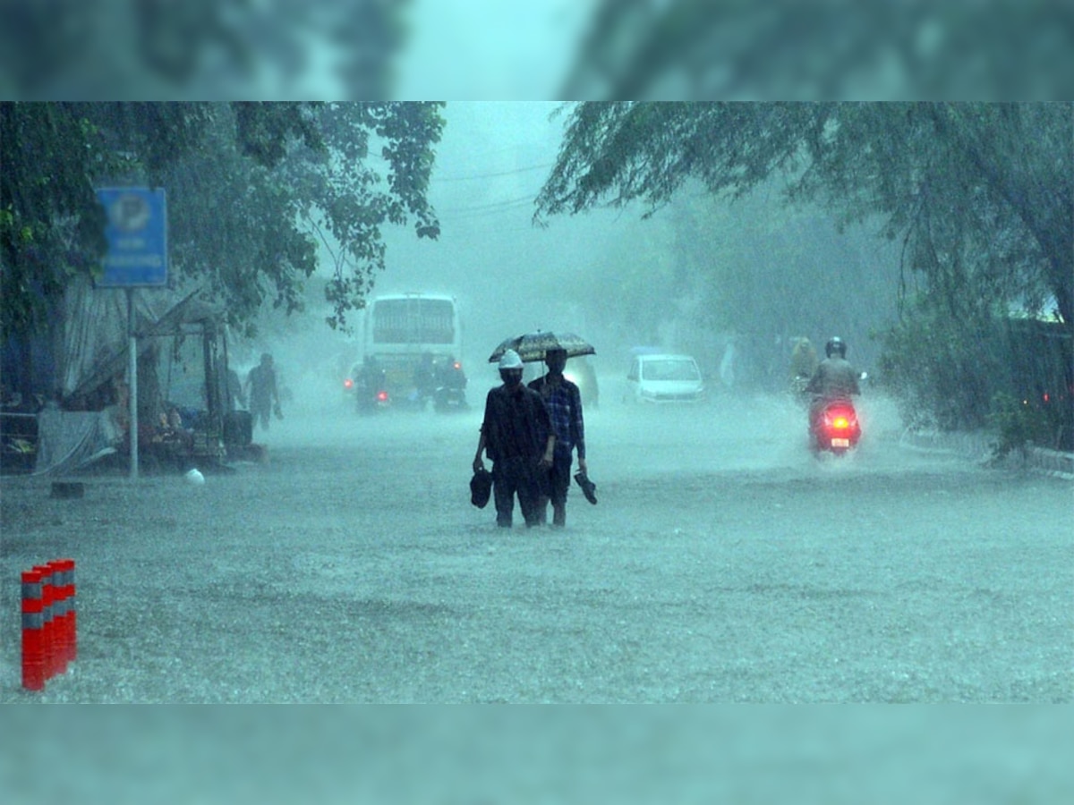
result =
[[[70,277],[100,270],[104,180],[169,190],[176,281],[236,324],[270,297],[301,307],[319,228],[338,244],[342,324],[383,267],[382,225],[412,216],[419,237],[437,236],[425,190],[442,125],[432,103],[0,104],[3,334],[33,332]]]

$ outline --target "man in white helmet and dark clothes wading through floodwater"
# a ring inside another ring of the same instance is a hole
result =
[[[541,475],[552,466],[555,434],[545,401],[522,383],[522,358],[514,350],[499,358],[499,377],[504,384],[491,389],[484,400],[474,471],[484,469],[485,453],[492,462],[496,525],[511,527],[518,495],[528,528],[540,524]]]

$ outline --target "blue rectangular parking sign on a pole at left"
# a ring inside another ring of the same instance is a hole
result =
[[[168,204],[163,190],[100,188],[107,223],[103,288],[168,284]]]

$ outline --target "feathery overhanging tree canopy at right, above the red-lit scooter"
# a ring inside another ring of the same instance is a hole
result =
[[[843,224],[879,217],[967,349],[1012,306],[1055,316],[1069,339],[1072,166],[1070,103],[583,103],[536,220],[632,202],[652,215],[688,181],[741,199],[780,176],[788,201]]]

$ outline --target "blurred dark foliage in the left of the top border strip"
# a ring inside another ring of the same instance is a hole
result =
[[[408,4],[6,3],[0,87],[24,100],[301,97],[318,53],[319,79],[331,71],[347,98],[382,100],[392,94]]]

